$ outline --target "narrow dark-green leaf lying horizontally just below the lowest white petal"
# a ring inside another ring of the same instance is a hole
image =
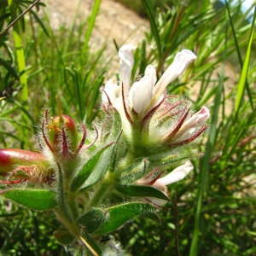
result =
[[[169,201],[169,198],[164,193],[162,193],[158,189],[154,189],[154,187],[151,186],[117,185],[115,188],[122,195],[136,197],[154,197]]]

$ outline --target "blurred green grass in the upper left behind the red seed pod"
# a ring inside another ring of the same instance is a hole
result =
[[[22,67],[23,71],[19,70],[21,60],[15,54],[15,45],[11,47],[9,44],[9,40],[13,40],[12,29],[1,36],[0,97],[5,97],[5,100],[2,101],[0,115],[4,124],[9,127],[0,127],[0,140],[4,147],[9,147],[8,136],[15,137],[16,143],[20,141],[21,148],[33,147],[33,142],[28,140],[27,134],[36,133],[35,125],[38,124],[42,109],[46,108],[46,105],[53,114],[57,113],[55,96],[58,90],[61,90],[65,113],[84,122],[90,122],[96,117],[99,88],[102,86],[104,67],[108,62],[102,64],[101,61],[105,49],[103,45],[98,48],[98,52],[93,52],[88,43],[99,3],[100,1],[96,1],[93,15],[82,24],[78,25],[74,21],[70,27],[62,25],[59,31],[55,31],[50,26],[50,20],[39,16],[36,10],[28,13],[32,22],[26,22],[24,17],[16,22],[19,26],[22,24],[19,40],[22,41],[26,57],[26,63],[22,64],[26,65]],[[13,4],[16,15],[20,15],[28,6],[26,1],[19,1],[18,5]],[[44,4],[40,3],[38,8],[42,9],[42,6],[44,7]],[[10,20],[10,10],[8,6],[0,10],[4,14],[2,18],[5,22],[0,23],[0,30],[3,31]],[[25,96],[26,89],[20,80],[25,70],[29,99]],[[28,102],[27,105],[24,102]],[[20,111],[23,117],[20,117]],[[19,125],[25,129],[20,129]],[[20,145],[14,144],[10,147],[20,148]]]

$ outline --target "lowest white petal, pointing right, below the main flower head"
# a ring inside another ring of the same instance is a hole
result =
[[[171,173],[167,174],[165,177],[160,177],[157,180],[157,183],[160,183],[161,185],[169,185],[172,183],[177,183],[178,181],[186,177],[193,168],[194,167],[191,164],[191,162],[187,161],[183,166],[178,166],[176,169],[174,169]]]

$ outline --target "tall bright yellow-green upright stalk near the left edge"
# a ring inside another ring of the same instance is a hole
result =
[[[8,0],[11,19],[15,20],[16,18],[16,4],[14,0]],[[18,71],[20,73],[20,84],[21,84],[21,95],[20,102],[23,108],[27,109],[27,99],[28,99],[28,90],[27,90],[27,78],[26,78],[26,61],[24,55],[24,49],[22,45],[22,32],[20,29],[20,23],[16,22],[13,26],[14,42],[15,42],[15,55],[18,65]],[[23,121],[26,123],[26,114],[22,114]],[[27,145],[27,130],[22,129],[22,141]]]

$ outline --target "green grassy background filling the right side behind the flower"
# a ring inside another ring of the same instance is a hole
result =
[[[254,253],[255,236],[251,231],[255,225],[255,209],[250,195],[255,196],[253,95],[256,87],[252,76],[255,58],[250,48],[253,49],[253,38],[255,41],[255,22],[248,24],[239,6],[230,7],[228,3],[217,10],[207,2],[181,4],[176,9],[158,13],[155,18],[148,2],[142,2],[148,12],[151,32],[137,49],[138,73],[143,73],[146,65],[152,62],[158,65],[161,73],[169,61],[166,57],[172,56],[172,52],[194,49],[198,56],[194,67],[179,84],[171,84],[170,91],[188,96],[195,109],[203,105],[211,107],[212,119],[207,148],[201,149],[205,156],[195,166],[193,180],[189,180],[187,186],[172,185],[181,205],[178,215],[173,202],[171,212],[161,213],[160,227],[138,219],[130,229],[126,226],[124,232],[119,232],[119,239],[124,243],[129,240],[132,255],[137,255],[138,251],[140,255],[147,255],[148,248],[154,255],[170,255],[174,250],[177,255]],[[225,9],[230,16],[225,15]],[[147,43],[150,48],[145,47]],[[246,52],[242,60],[241,53]],[[237,85],[229,84],[232,74],[225,73],[229,61],[233,63],[240,57],[241,66],[236,61],[232,70],[241,73],[240,79],[237,76]],[[221,69],[215,79],[218,65]]]

